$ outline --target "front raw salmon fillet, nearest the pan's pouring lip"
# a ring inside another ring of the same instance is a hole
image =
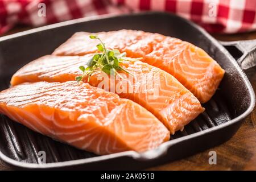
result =
[[[149,111],[85,83],[24,83],[0,92],[0,113],[96,154],[158,147],[170,132]]]

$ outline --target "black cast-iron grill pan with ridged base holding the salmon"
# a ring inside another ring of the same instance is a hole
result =
[[[245,69],[255,65],[256,42],[222,43],[230,55],[202,28],[167,13],[82,18],[0,38],[0,90],[9,87],[11,76],[20,67],[52,53],[75,32],[122,28],[158,32],[186,40],[203,48],[218,61],[226,71],[225,77],[212,100],[204,104],[205,112],[155,150],[143,154],[127,151],[104,156],[55,142],[0,115],[2,160],[16,167],[33,169],[143,169],[204,151],[236,133],[255,105],[253,88],[240,65]],[[46,163],[40,160],[39,151],[46,152]]]

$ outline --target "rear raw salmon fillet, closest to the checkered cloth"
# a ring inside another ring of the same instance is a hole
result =
[[[98,42],[90,39],[90,34],[77,32],[53,55],[81,56],[96,52]],[[126,52],[129,57],[142,57],[142,61],[170,73],[202,103],[210,100],[224,77],[224,69],[203,49],[176,38],[133,30],[97,35],[107,47]]]

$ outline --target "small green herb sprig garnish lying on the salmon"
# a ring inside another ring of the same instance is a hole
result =
[[[122,68],[119,63],[121,63],[122,61],[139,59],[131,59],[129,57],[126,57],[126,52],[120,53],[117,49],[106,49],[105,44],[101,41],[100,38],[98,38],[97,35],[90,35],[89,37],[90,39],[98,39],[100,41],[100,44],[97,45],[97,49],[101,53],[94,54],[93,57],[86,63],[87,67],[79,67],[83,74],[76,77],[77,82],[81,81],[85,76],[88,76],[89,82],[92,74],[98,70],[107,73],[108,75],[118,75],[121,78],[122,76],[118,73],[118,71],[123,71],[131,74],[126,71],[126,69]]]

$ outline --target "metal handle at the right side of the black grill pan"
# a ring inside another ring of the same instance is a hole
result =
[[[221,42],[230,54],[237,60],[242,69],[249,69],[256,65],[256,39],[234,42]]]

